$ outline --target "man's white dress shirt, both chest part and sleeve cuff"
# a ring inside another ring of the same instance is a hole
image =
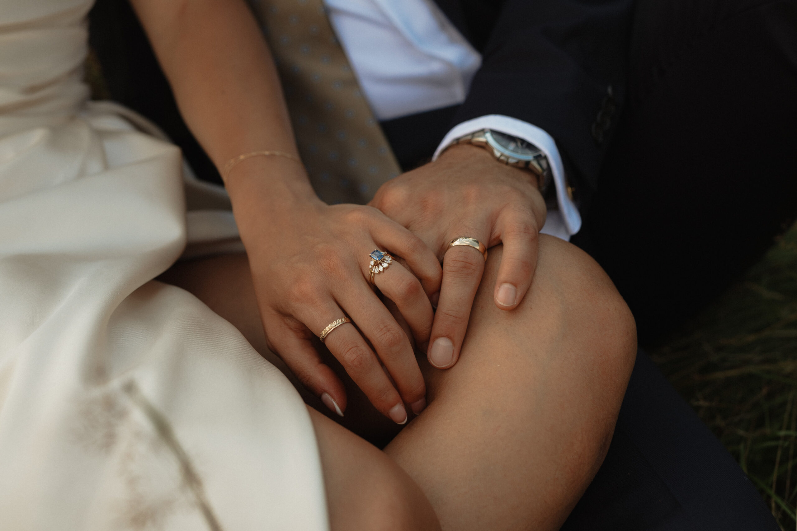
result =
[[[481,55],[433,0],[324,0],[332,27],[377,119],[431,111],[465,101]],[[551,135],[511,116],[487,115],[454,127],[434,157],[454,139],[493,129],[524,139],[551,164],[558,210],[540,232],[569,240],[581,216],[567,195],[562,158]]]

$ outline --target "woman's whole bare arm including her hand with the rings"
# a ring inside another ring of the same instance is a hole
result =
[[[242,0],[132,0],[170,81],[188,127],[215,165],[240,154],[277,150],[298,155],[276,69]],[[222,176],[233,202],[269,346],[333,411],[346,408],[340,380],[311,338],[347,314],[354,326],[326,345],[380,412],[398,424],[404,404],[423,404],[426,388],[410,341],[367,283],[375,248],[402,256],[383,291],[427,342],[428,295],[439,290],[440,265],[406,228],[378,210],[325,205],[304,167],[281,156],[246,158]],[[411,278],[410,278],[411,277]],[[377,358],[379,357],[379,359]],[[395,386],[379,363],[387,367]],[[336,404],[332,404],[334,400]]]

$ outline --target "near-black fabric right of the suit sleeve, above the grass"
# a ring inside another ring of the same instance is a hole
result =
[[[797,2],[638,2],[626,107],[571,240],[651,345],[797,214]]]

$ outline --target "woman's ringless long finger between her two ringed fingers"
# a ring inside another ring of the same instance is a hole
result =
[[[374,346],[398,392],[412,407],[426,396],[426,384],[410,345],[410,338],[376,296],[367,281],[347,285],[332,295]],[[353,375],[352,375],[353,377]],[[364,390],[364,389],[363,389]],[[391,417],[392,418],[392,417]]]

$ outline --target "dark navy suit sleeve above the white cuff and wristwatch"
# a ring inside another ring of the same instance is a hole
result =
[[[625,94],[632,0],[506,0],[456,123],[532,123],[592,187]]]

